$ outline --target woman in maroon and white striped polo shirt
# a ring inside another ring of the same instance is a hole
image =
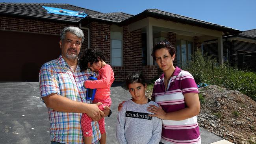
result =
[[[156,44],[151,55],[163,70],[155,82],[151,99],[160,107],[147,107],[154,113],[150,116],[162,119],[160,144],[201,144],[197,124],[200,102],[193,76],[173,66],[175,48],[167,40]]]

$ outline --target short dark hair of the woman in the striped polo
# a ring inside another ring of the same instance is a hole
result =
[[[170,55],[173,56],[173,54],[175,54],[176,50],[174,48],[174,46],[169,42],[167,41],[167,39],[165,39],[164,41],[160,41],[158,42],[154,48],[152,49],[152,54],[151,56],[153,57],[154,60],[156,60],[156,50],[159,50],[161,48],[167,48],[167,50],[169,51]]]

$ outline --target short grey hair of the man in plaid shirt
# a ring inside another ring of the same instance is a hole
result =
[[[70,32],[70,33],[76,35],[78,38],[82,38],[82,42],[84,41],[83,31],[80,28],[75,27],[75,26],[68,26],[66,28],[63,28],[63,30],[60,33],[61,41],[64,41],[67,32]]]

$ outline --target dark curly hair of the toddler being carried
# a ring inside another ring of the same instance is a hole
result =
[[[79,66],[81,72],[87,70],[88,63],[93,65],[93,63],[98,61],[106,61],[106,57],[103,51],[96,50],[95,48],[87,48],[82,54],[81,59],[79,59]]]

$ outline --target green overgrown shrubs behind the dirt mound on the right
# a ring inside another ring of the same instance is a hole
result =
[[[197,50],[185,70],[190,72],[197,84],[219,85],[231,90],[239,90],[256,101],[256,73],[242,71],[224,63],[219,66],[211,56],[202,55]]]

